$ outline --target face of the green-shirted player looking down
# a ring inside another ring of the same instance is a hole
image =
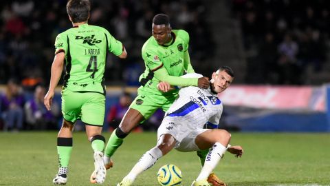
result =
[[[170,41],[169,25],[155,25],[153,24],[153,37],[155,37],[158,45],[164,45]]]

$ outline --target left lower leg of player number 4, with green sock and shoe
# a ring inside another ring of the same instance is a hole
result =
[[[61,130],[57,136],[58,174],[53,179],[54,184],[67,183],[67,167],[72,153],[72,130],[74,123],[63,119]]]

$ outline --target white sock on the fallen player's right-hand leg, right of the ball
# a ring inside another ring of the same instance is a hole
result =
[[[223,158],[226,150],[227,148],[221,143],[214,143],[205,158],[204,166],[201,168],[201,172],[196,180],[206,180],[221,158]]]

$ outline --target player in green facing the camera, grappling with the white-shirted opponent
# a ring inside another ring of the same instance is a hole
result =
[[[166,111],[177,98],[179,90],[161,92],[157,89],[159,81],[170,85],[198,86],[207,88],[207,77],[181,78],[184,73],[195,72],[190,64],[188,53],[189,34],[184,30],[172,30],[169,17],[157,14],[153,17],[152,34],[142,47],[142,58],[146,70],[140,76],[142,84],[122,121],[111,134],[104,151],[104,164],[112,167],[111,156],[122,145],[124,138],[139,123],[148,119],[158,108]],[[93,175],[91,176],[93,178]]]

